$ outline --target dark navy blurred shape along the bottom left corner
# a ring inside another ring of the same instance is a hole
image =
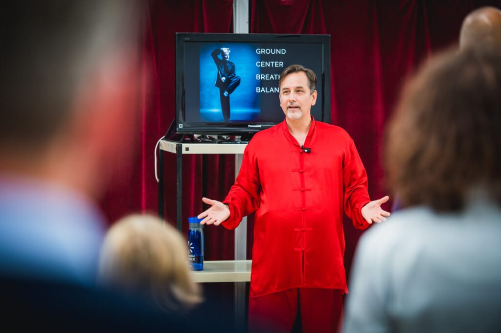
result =
[[[185,316],[100,287],[2,276],[0,294],[3,324],[19,329],[197,331]]]

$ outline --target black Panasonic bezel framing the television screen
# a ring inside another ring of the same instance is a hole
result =
[[[175,83],[176,83],[176,110],[175,132],[177,134],[201,135],[251,135],[263,129],[270,128],[276,123],[270,122],[187,122],[182,119],[184,96],[184,43],[301,43],[321,44],[322,73],[317,74],[317,80],[322,82],[321,119],[316,120],[330,123],[331,120],[331,36],[308,34],[231,34],[231,33],[176,33],[175,34]],[[278,98],[278,97],[277,97]],[[186,127],[186,124],[189,124]],[[182,125],[182,126],[179,126]],[[250,127],[248,125],[259,125]]]

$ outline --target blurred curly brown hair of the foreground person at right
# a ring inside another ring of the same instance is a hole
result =
[[[387,128],[387,184],[402,206],[458,211],[481,188],[501,204],[501,56],[446,51],[405,86]]]

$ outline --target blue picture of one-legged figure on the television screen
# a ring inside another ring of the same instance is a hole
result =
[[[200,121],[260,119],[257,88],[260,55],[253,44],[208,43],[200,47]]]

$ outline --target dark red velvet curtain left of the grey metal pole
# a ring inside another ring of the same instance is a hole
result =
[[[110,223],[125,214],[158,212],[158,185],[154,174],[155,144],[165,135],[175,117],[176,32],[231,33],[232,0],[149,1],[144,4],[142,32],[141,117],[137,124],[136,163],[123,170],[120,182],[110,187],[101,207]],[[158,156],[157,156],[158,157]],[[202,195],[223,198],[234,182],[234,155],[183,156],[183,232],[187,217],[202,211]],[[164,154],[165,219],[176,224],[176,159]],[[162,170],[158,170],[162,172]],[[234,232],[224,228],[204,229],[205,259],[233,259]]]

